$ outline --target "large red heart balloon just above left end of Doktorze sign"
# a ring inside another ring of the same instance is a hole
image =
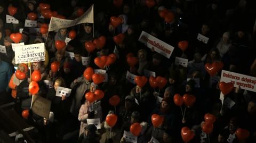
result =
[[[221,71],[223,68],[223,63],[221,61],[215,61],[212,64],[206,63],[205,70],[213,77],[217,72]]]

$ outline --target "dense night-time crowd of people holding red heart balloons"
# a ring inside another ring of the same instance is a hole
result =
[[[51,17],[44,9],[74,20],[92,4],[93,23],[43,29]],[[19,22],[7,22],[7,14]],[[121,18],[117,26],[113,16]],[[28,132],[35,142],[256,142],[255,92],[236,86],[223,97],[219,88],[221,69],[256,77],[255,18],[252,0],[0,1],[0,45],[6,51],[0,53],[0,105],[14,102],[23,117],[28,111],[24,120],[34,127]],[[34,19],[37,26],[25,27],[26,19]],[[138,41],[142,31],[173,46],[170,58]],[[10,35],[18,32],[19,43],[44,43],[44,61],[15,63]],[[94,40],[100,37],[105,42],[98,46]],[[71,40],[59,48],[56,42],[66,38]],[[188,44],[185,49],[180,41]],[[90,59],[86,64],[84,57]],[[102,57],[114,60],[100,66],[107,60]],[[187,59],[187,65],[175,64],[175,57]],[[213,63],[223,66],[212,75],[205,65]],[[106,72],[104,81],[88,72],[96,69]],[[159,78],[141,78],[145,70]],[[31,94],[34,71],[41,78],[39,90]],[[132,82],[127,72],[139,78]],[[58,87],[71,89],[70,96],[56,96]],[[30,109],[33,96],[51,101],[49,118]],[[88,119],[99,119],[101,125]],[[21,134],[12,139],[25,142]]]

